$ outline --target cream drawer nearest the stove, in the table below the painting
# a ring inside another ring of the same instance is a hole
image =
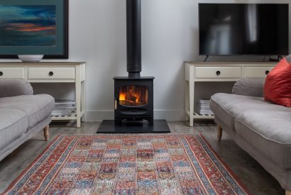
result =
[[[28,67],[28,79],[75,79],[75,67]]]

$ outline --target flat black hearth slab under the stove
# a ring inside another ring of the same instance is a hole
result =
[[[170,128],[165,120],[155,120],[153,126],[149,126],[147,121],[123,122],[118,126],[114,120],[104,120],[97,133],[170,133]]]

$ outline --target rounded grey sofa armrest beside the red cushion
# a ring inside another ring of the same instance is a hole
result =
[[[233,94],[243,96],[264,96],[265,78],[244,78],[238,80],[232,89]]]

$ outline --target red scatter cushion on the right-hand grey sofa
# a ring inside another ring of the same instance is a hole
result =
[[[265,79],[266,101],[291,107],[291,64],[283,58]]]

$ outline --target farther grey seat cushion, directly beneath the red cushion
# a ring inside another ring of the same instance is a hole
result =
[[[210,108],[226,126],[234,129],[234,120],[239,113],[249,110],[257,111],[290,111],[291,108],[278,106],[269,101],[264,101],[263,97],[241,96],[236,94],[214,94],[210,101]]]

